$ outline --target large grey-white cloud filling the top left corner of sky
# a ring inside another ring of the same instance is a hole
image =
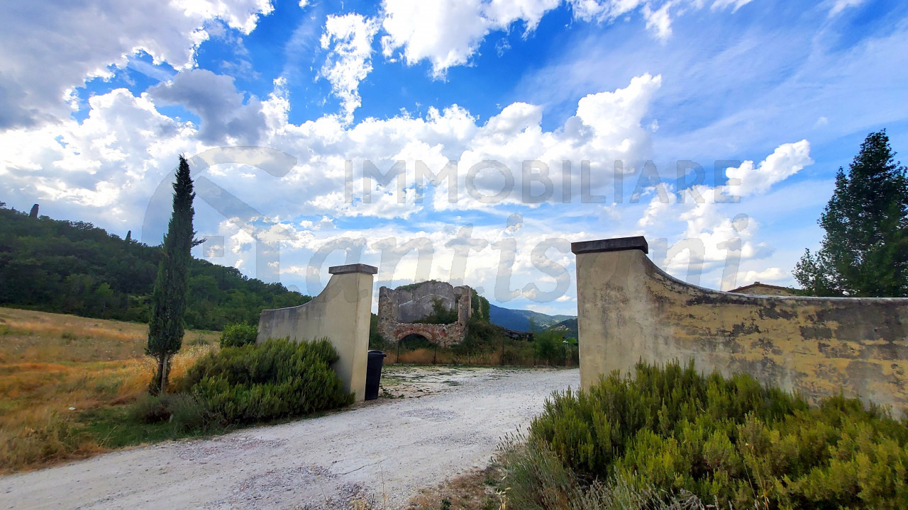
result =
[[[248,34],[270,12],[269,0],[9,3],[0,16],[0,129],[65,118],[74,87],[110,76],[110,65],[123,67],[139,51],[192,67],[206,26]]]

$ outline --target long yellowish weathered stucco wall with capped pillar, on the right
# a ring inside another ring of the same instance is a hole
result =
[[[693,359],[749,373],[809,400],[837,394],[908,410],[908,299],[752,296],[676,280],[646,240],[573,243],[580,379],[590,387],[638,360]]]

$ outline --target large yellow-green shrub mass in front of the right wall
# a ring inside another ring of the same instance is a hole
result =
[[[906,508],[908,427],[842,396],[808,407],[754,378],[638,365],[554,394],[529,441],[581,480],[617,477],[719,507]]]

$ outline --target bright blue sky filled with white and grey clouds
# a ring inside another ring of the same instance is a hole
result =
[[[900,0],[83,0],[0,18],[0,201],[314,294],[331,265],[574,314],[569,243],[790,285],[838,167],[908,147]],[[376,288],[378,287],[376,286]]]

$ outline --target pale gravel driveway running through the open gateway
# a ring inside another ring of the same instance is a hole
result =
[[[2,508],[400,508],[420,488],[485,466],[577,369],[410,368],[349,410],[170,442],[0,478]]]

